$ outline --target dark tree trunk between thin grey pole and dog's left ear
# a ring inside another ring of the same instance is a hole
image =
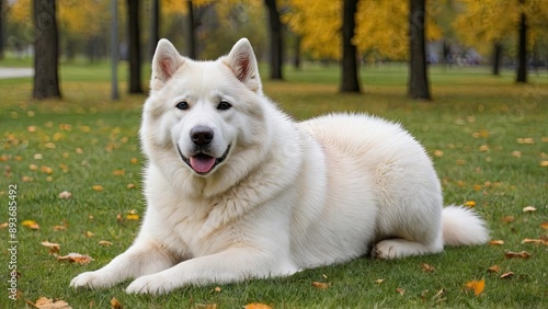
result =
[[[127,0],[129,93],[142,93],[140,83],[139,0]]]

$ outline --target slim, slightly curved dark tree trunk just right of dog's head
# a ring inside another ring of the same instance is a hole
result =
[[[283,28],[279,19],[279,12],[276,7],[276,0],[264,0],[269,9],[269,31],[271,38],[271,79],[283,80],[282,65],[283,65]]]

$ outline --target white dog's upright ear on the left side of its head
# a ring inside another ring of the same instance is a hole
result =
[[[165,38],[160,39],[152,58],[150,89],[160,90],[183,64],[184,58],[173,44]]]

